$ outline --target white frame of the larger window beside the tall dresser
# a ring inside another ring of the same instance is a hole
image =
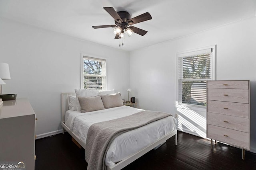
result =
[[[182,51],[182,52],[178,52],[176,54],[176,107],[177,106],[178,107],[179,106],[180,107],[186,106],[186,107],[192,107],[192,108],[199,109],[199,110],[200,109],[206,109],[206,106],[182,103],[182,97],[180,98],[180,96],[182,96],[182,94],[180,95],[180,93],[182,93],[182,89],[180,90],[180,88],[182,88],[182,86],[180,86],[180,81],[181,80],[179,79],[179,76],[180,76],[179,75],[179,59],[183,58],[183,57],[189,57],[189,56],[197,55],[197,54],[199,55],[200,51],[204,51],[204,50],[207,50],[207,49],[212,49],[211,58],[210,58],[211,78],[208,78],[205,81],[215,80],[216,45],[211,45],[211,46],[202,47],[202,48],[198,48],[198,49],[192,49],[192,50],[188,50],[188,51]],[[196,80],[196,79],[194,79],[194,80]]]

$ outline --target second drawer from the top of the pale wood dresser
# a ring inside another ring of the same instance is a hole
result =
[[[248,104],[249,90],[248,89],[208,88],[207,100],[217,100],[217,101],[224,101],[224,102],[237,102],[237,103]]]

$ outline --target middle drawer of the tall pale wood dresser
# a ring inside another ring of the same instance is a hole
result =
[[[248,118],[249,104],[207,100],[207,111]]]

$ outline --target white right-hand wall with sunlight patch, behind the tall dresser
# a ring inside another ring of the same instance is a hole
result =
[[[256,18],[153,45],[130,53],[130,88],[143,109],[176,110],[176,53],[216,46],[216,80],[250,80],[251,150],[256,152]],[[206,110],[182,109],[178,128],[206,137]]]

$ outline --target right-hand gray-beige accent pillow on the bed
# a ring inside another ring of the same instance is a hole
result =
[[[120,93],[101,96],[105,109],[124,106]]]

